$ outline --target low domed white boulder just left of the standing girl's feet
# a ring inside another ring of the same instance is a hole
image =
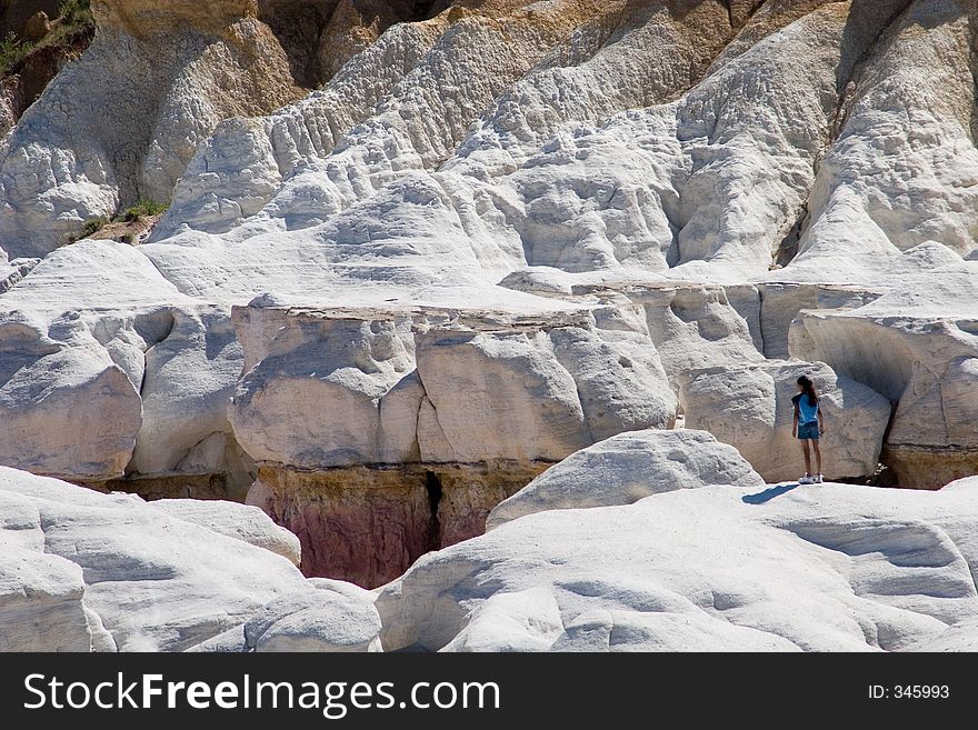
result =
[[[620,433],[550,467],[486,520],[486,529],[546,510],[631,504],[650,494],[706,484],[764,487],[736,449],[705,431]]]

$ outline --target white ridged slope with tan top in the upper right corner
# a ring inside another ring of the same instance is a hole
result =
[[[838,138],[809,196],[797,264],[822,281],[878,272],[929,240],[961,256],[975,250],[974,10],[947,0],[902,4],[846,89]]]

